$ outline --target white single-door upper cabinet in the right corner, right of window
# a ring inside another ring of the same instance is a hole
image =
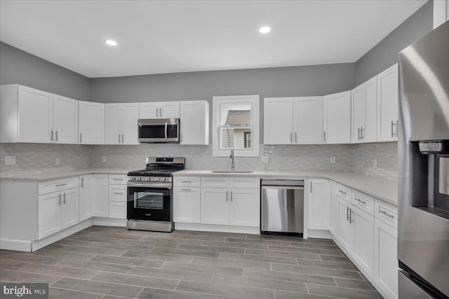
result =
[[[351,92],[323,97],[323,130],[325,144],[351,142]]]

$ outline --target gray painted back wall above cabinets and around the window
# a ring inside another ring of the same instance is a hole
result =
[[[271,69],[201,71],[115,78],[92,78],[94,102],[158,102],[206,99],[217,95],[291,97],[327,95],[354,86],[354,63]],[[212,118],[210,118],[212,123]],[[211,133],[212,134],[212,133]],[[263,143],[263,105],[260,105]]]

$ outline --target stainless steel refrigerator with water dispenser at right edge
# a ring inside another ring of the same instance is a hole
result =
[[[399,298],[449,296],[449,22],[399,53]]]

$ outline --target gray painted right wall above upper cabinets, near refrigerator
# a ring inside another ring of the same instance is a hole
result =
[[[398,62],[398,52],[431,32],[433,22],[434,1],[429,1],[356,62],[356,85]]]

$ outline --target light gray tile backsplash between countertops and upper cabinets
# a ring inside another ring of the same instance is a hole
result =
[[[4,166],[4,156],[15,155],[17,165]],[[397,144],[335,144],[260,146],[260,155],[268,155],[269,162],[260,157],[235,159],[236,169],[253,170],[335,170],[359,172],[386,179],[397,179]],[[330,164],[330,156],[335,164]],[[106,156],[106,162],[102,161]],[[0,144],[0,174],[25,174],[114,167],[130,170],[145,167],[147,156],[182,156],[187,169],[230,169],[227,157],[213,157],[212,146],[180,146],[179,144],[142,144],[136,146],[86,146],[63,144]],[[60,158],[60,165],[55,165]],[[373,159],[378,167],[373,168]]]

